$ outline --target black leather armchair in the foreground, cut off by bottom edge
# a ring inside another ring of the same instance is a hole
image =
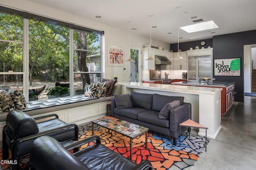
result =
[[[95,144],[74,154],[68,151],[91,141]],[[100,144],[98,136],[78,141],[66,149],[52,137],[39,137],[30,150],[30,165],[35,170],[152,170],[149,161],[135,164]]]

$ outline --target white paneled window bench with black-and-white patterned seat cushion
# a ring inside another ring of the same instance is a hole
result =
[[[86,98],[84,95],[58,99],[38,100],[27,103],[27,109],[22,109],[32,117],[55,113],[59,119],[67,123],[80,125],[106,116],[107,105],[111,104],[114,94],[121,94],[121,85],[115,85],[112,96],[102,98]],[[6,124],[8,112],[0,114],[0,141],[2,141],[2,129]]]

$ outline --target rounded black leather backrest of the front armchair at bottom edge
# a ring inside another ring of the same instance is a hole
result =
[[[36,170],[90,170],[56,139],[38,137],[30,149],[30,164]]]

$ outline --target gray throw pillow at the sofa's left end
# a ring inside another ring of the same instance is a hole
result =
[[[118,109],[132,107],[132,100],[129,94],[115,94],[114,99]]]

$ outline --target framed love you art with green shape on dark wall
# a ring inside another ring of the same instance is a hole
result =
[[[214,76],[241,76],[241,59],[215,59]]]

